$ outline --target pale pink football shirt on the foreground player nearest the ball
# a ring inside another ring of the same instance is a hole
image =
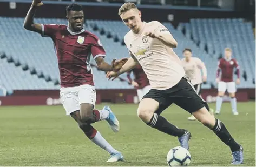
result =
[[[145,36],[145,32],[149,30],[170,34],[168,29],[157,21],[143,22],[140,32],[134,34],[134,32],[129,31],[124,36],[124,42],[141,64],[152,89],[166,90],[172,88],[185,76],[183,66],[172,48],[157,38]]]

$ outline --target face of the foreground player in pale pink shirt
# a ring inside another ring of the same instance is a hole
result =
[[[120,17],[130,30],[135,33],[140,31],[142,25],[140,11],[131,9],[124,12],[122,15],[120,15]]]

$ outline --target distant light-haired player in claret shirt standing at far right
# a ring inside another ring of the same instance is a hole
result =
[[[237,70],[237,81],[233,81],[234,69]],[[221,72],[221,78],[220,77]],[[238,115],[237,111],[237,98],[235,98],[235,83],[240,84],[240,69],[236,59],[232,58],[232,50],[230,48],[225,48],[225,58],[221,58],[218,63],[217,78],[218,83],[218,97],[216,100],[216,114],[220,114],[222,98],[225,91],[229,93],[231,107],[233,115]]]

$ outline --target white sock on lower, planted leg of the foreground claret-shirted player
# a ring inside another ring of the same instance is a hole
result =
[[[95,137],[91,139],[96,145],[100,146],[100,148],[108,151],[109,153],[118,153],[107,141],[101,136],[101,133],[97,131]]]

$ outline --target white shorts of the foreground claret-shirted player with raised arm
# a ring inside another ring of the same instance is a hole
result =
[[[66,115],[80,110],[80,104],[88,103],[95,106],[96,103],[96,90],[95,86],[80,85],[75,87],[62,87],[60,89],[61,101]]]

